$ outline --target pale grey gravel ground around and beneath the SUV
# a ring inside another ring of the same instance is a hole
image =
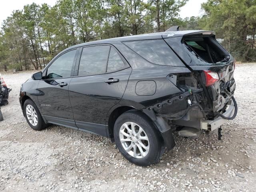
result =
[[[10,92],[1,107],[0,191],[255,191],[256,64],[235,70],[238,115],[209,136],[186,139],[158,164],[125,160],[109,139],[62,126],[32,130],[20,109],[20,85],[33,72],[2,74]]]

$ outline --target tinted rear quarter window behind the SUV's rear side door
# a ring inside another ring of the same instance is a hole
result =
[[[123,42],[147,61],[165,66],[184,66],[178,56],[162,39]]]

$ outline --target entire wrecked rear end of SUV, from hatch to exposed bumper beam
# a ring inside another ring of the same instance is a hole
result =
[[[166,107],[155,108],[157,116],[169,120],[180,130],[180,136],[190,138],[198,137],[202,129],[212,131],[233,119],[237,112],[233,97],[235,60],[216,41],[214,32],[174,32],[162,37],[191,72],[167,77],[183,92],[182,98],[171,98]]]

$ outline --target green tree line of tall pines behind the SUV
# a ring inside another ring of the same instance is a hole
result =
[[[0,69],[42,69],[82,42],[182,30],[213,30],[237,60],[255,61],[256,0],[208,0],[200,17],[179,18],[188,0],[59,0],[15,10],[0,30]]]

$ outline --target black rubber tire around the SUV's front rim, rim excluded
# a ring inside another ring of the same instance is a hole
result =
[[[35,110],[36,110],[36,114],[37,114],[37,118],[38,118],[38,123],[36,126],[33,126],[29,120],[28,120],[28,117],[26,115],[26,106],[30,104]],[[34,130],[37,130],[37,131],[40,131],[40,130],[43,130],[44,128],[46,128],[47,124],[44,122],[36,104],[31,100],[31,99],[27,99],[25,102],[24,102],[24,106],[23,106],[23,110],[24,110],[24,114],[25,114],[25,117],[26,117],[26,120],[29,124],[29,126],[34,129]]]

